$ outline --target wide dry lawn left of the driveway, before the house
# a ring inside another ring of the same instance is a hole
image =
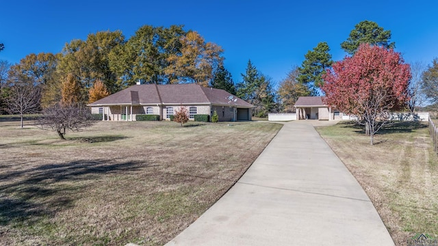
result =
[[[163,245],[214,204],[280,128],[98,122],[62,141],[0,122],[0,244]]]

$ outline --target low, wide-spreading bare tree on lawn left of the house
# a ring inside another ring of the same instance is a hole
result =
[[[42,111],[38,127],[44,130],[56,131],[57,135],[66,140],[66,130],[81,131],[92,126],[93,118],[90,109],[81,105],[54,105]]]

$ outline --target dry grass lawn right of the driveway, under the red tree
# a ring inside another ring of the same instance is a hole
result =
[[[353,122],[317,128],[372,200],[396,245],[438,236],[438,159],[427,124],[400,122],[374,138]]]

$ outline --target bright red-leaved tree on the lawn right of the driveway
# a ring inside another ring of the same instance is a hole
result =
[[[389,113],[409,100],[409,64],[400,53],[361,44],[352,57],[333,64],[323,77],[326,104],[357,115],[371,144],[374,134],[389,122]]]

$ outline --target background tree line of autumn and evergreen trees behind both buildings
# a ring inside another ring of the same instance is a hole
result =
[[[390,39],[391,31],[364,20],[341,47],[352,57],[364,43],[394,49],[395,43]],[[1,44],[0,50],[3,48]],[[278,85],[248,60],[245,72],[235,83],[224,67],[222,48],[206,42],[196,31],[186,31],[182,25],[144,25],[128,39],[121,31],[98,31],[90,33],[86,40],[71,40],[57,54],[32,53],[18,64],[0,61],[0,113],[18,113],[11,102],[18,98],[18,92],[30,90],[16,90],[17,86],[33,88],[35,107],[21,112],[31,113],[60,103],[94,102],[140,80],[155,84],[196,83],[227,90],[255,105],[254,116],[265,117],[270,112],[294,111],[300,96],[324,93],[324,76],[334,64],[329,44],[318,43],[304,58],[301,66],[292,66]],[[427,69],[417,66],[417,72],[412,72],[417,76],[412,76],[409,84],[409,108],[414,110],[415,105],[425,101],[436,104],[437,70],[435,59]]]

